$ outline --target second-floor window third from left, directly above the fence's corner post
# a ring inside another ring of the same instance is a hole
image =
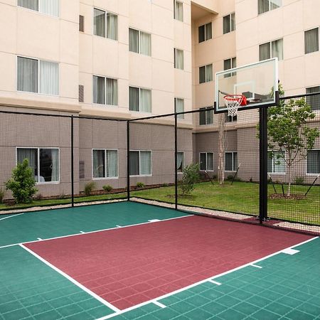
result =
[[[129,110],[151,112],[151,90],[129,87]]]

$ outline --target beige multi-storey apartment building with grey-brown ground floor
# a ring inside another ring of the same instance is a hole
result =
[[[123,188],[127,128],[116,120],[212,107],[216,72],[274,56],[287,95],[320,90],[319,14],[316,0],[0,0],[1,110],[73,114],[75,192],[92,180]],[[70,118],[0,119],[1,183],[28,158],[43,194],[69,194]],[[179,117],[181,165],[215,174],[218,119]],[[225,121],[227,174],[241,163],[257,179],[257,112]],[[172,182],[172,126],[132,125],[132,184]]]

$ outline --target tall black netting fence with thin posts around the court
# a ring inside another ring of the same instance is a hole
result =
[[[320,94],[268,109],[264,185],[260,110],[129,121],[0,111],[0,213],[120,199],[320,234],[318,110]],[[23,181],[35,188],[25,198]]]

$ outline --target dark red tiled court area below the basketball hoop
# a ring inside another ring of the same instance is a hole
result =
[[[310,238],[189,216],[26,247],[118,309],[126,309]]]

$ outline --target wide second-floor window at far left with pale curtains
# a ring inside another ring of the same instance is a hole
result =
[[[18,91],[59,95],[59,64],[18,57]]]

